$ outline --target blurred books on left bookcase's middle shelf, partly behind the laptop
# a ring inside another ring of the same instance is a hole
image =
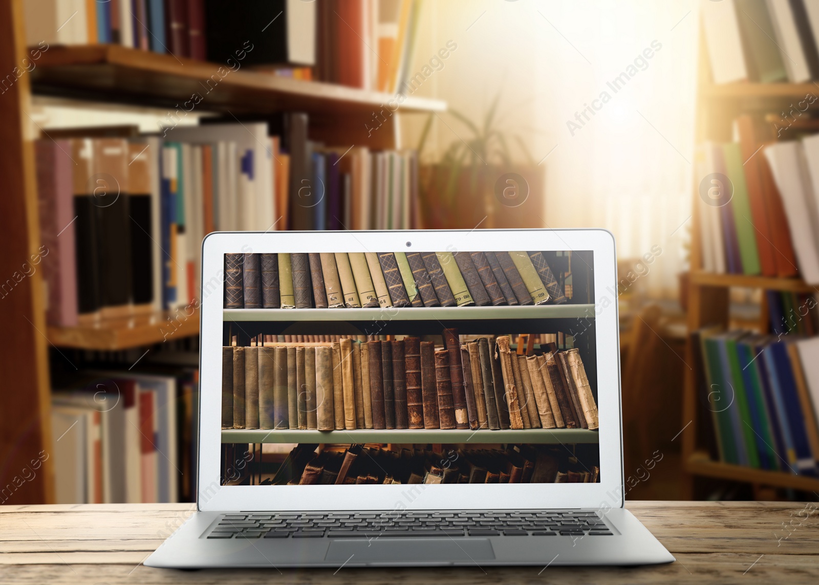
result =
[[[306,139],[305,114],[283,119],[283,136],[246,122],[176,127],[167,138],[126,128],[110,130],[130,138],[38,140],[48,323],[191,305],[200,243],[215,230],[417,227],[414,152],[344,156]],[[305,181],[318,190],[305,192]],[[2,296],[15,284],[3,283]]]

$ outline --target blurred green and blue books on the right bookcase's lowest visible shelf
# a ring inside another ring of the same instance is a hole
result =
[[[819,338],[695,333],[719,460],[817,476]]]

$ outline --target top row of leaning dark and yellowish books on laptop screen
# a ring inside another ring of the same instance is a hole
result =
[[[548,252],[224,255],[226,309],[566,302]],[[562,275],[561,275],[562,276]]]

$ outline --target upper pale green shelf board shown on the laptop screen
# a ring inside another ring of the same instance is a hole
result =
[[[408,306],[378,309],[224,309],[225,321],[432,321],[583,319],[594,305]]]

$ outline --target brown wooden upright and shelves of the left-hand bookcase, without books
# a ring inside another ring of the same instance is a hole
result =
[[[20,478],[30,478],[31,474],[24,469],[38,460],[41,452],[52,451],[49,348],[120,350],[158,343],[163,339],[161,325],[169,316],[103,321],[89,327],[47,326],[43,277],[36,266],[32,270],[30,265],[40,245],[33,144],[38,137],[29,132],[32,96],[167,107],[173,113],[176,104],[182,104],[194,92],[201,92],[201,84],[219,68],[215,63],[115,45],[93,45],[52,46],[41,53],[33,70],[25,71],[23,60],[29,55],[23,2],[0,0],[0,71],[6,80],[5,91],[0,93],[3,121],[0,143],[4,151],[0,156],[0,176],[4,182],[0,196],[0,283],[7,284],[0,298],[0,323],[7,333],[0,351],[3,487],[19,483]],[[305,111],[310,116],[311,139],[371,148],[401,147],[400,115],[446,110],[445,102],[407,97],[399,111],[387,115],[387,102],[392,97],[238,70],[224,75],[197,108],[233,116]],[[387,121],[369,135],[365,122],[371,121],[376,113]],[[198,333],[197,315],[180,323],[174,337]],[[34,478],[11,492],[10,503],[52,502],[52,458],[45,460]]]

